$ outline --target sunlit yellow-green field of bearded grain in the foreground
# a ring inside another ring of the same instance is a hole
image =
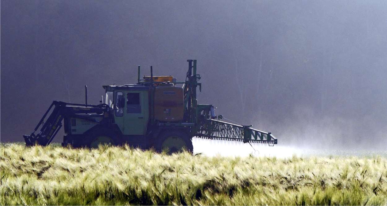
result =
[[[387,158],[2,144],[1,205],[385,205]]]

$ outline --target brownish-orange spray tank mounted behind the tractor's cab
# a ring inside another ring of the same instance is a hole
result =
[[[183,88],[167,84],[155,87],[154,119],[160,122],[178,122],[183,120]]]

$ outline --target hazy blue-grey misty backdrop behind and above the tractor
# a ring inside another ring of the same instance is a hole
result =
[[[53,100],[102,85],[185,79],[198,103],[278,145],[387,147],[386,1],[1,1],[1,141],[23,141]],[[62,141],[58,133],[54,141]]]

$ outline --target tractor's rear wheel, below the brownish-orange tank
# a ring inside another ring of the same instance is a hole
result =
[[[158,137],[158,144],[156,145],[156,150],[161,152],[164,149],[168,150],[168,153],[177,153],[187,149],[190,153],[194,151],[194,146],[192,145],[192,139],[181,131],[166,131],[163,132]]]

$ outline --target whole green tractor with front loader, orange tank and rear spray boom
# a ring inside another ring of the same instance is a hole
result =
[[[126,143],[157,151],[176,152],[184,147],[192,151],[192,137],[277,144],[271,132],[221,121],[223,116],[215,114],[214,106],[198,104],[200,75],[196,73],[196,60],[187,62],[184,82],[173,76],[153,76],[152,67],[151,76],[140,79],[138,66],[137,84],[103,86],[105,98],[99,105],[87,104],[87,88],[86,104],[53,101],[32,134],[23,135],[26,145],[50,144],[62,120],[62,146],[95,148],[98,144]]]

